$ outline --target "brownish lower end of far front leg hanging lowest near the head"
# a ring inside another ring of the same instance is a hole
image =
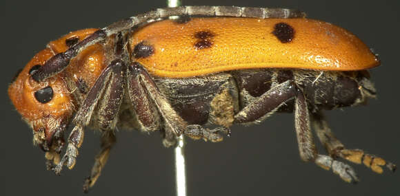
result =
[[[110,150],[114,143],[116,142],[116,138],[114,135],[114,131],[104,131],[101,135],[101,151],[94,158],[94,165],[92,167],[92,171],[90,172],[90,176],[86,178],[83,184],[83,192],[88,193],[89,188],[91,188],[99,178],[101,174],[101,170],[106,165],[108,160],[108,156],[110,155]]]

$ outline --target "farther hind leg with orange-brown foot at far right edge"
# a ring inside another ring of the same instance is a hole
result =
[[[357,164],[363,163],[376,173],[383,172],[381,166],[386,166],[390,169],[390,171],[396,170],[397,167],[395,164],[387,162],[381,157],[366,154],[360,149],[346,149],[344,145],[334,136],[321,112],[312,114],[312,125],[315,131],[317,131],[319,140],[325,146],[331,157],[341,157]]]

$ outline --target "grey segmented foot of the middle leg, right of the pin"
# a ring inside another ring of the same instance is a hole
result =
[[[183,133],[194,140],[203,138],[205,141],[210,140],[211,142],[221,142],[223,140],[223,136],[219,133],[226,133],[227,135],[230,135],[230,129],[227,127],[206,129],[199,124],[190,124]]]

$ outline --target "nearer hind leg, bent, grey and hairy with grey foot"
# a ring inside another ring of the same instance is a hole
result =
[[[346,182],[357,182],[358,178],[354,170],[348,164],[344,164],[327,155],[319,155],[312,140],[310,130],[310,111],[303,92],[294,85],[293,81],[281,83],[258,100],[250,103],[235,116],[235,122],[246,123],[259,121],[267,118],[277,111],[281,105],[291,99],[294,100],[294,124],[299,142],[300,157],[304,161],[312,161],[318,166],[332,171],[339,175]]]

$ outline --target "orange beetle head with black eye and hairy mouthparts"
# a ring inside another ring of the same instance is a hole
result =
[[[61,74],[39,83],[31,77],[52,56],[54,53],[50,49],[37,53],[8,87],[12,103],[33,129],[34,144],[39,144],[44,151],[62,146],[62,133],[68,126],[74,109],[70,92]],[[52,147],[52,143],[56,146]]]

